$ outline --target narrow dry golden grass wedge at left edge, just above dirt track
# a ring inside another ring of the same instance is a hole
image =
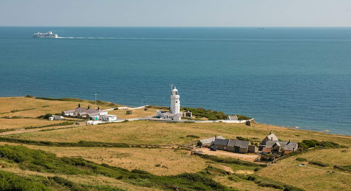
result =
[[[64,121],[49,121],[44,119],[0,119],[0,129],[19,129],[24,127],[37,127],[62,123]]]

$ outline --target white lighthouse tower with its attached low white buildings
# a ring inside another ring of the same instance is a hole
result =
[[[186,116],[191,117],[192,114],[190,111],[187,111],[184,113],[180,112],[180,101],[179,101],[178,90],[176,89],[176,86],[174,86],[174,89],[172,90],[172,94],[171,94],[170,112],[157,110],[156,116],[160,117],[160,119],[180,120],[182,117],[186,117]]]

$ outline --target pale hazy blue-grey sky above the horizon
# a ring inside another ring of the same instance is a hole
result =
[[[0,26],[351,26],[351,0],[0,0]]]

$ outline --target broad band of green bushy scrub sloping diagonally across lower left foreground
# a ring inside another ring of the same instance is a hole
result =
[[[111,167],[107,164],[96,164],[82,158],[56,157],[55,154],[41,150],[28,149],[22,146],[1,146],[0,154],[15,163],[22,169],[37,172],[50,172],[55,174],[87,174],[104,175],[120,179],[136,186],[158,188],[162,190],[204,190],[204,191],[230,191],[236,190],[223,186],[210,178],[205,172],[183,173],[176,176],[157,176],[149,172],[134,169],[129,171],[120,167]],[[165,168],[165,167],[164,167]],[[60,177],[50,178],[55,183],[69,188],[69,190],[82,191],[84,188]],[[6,181],[1,181],[6,182]],[[0,183],[0,184],[1,184]],[[11,188],[7,186],[5,188]],[[49,190],[45,189],[32,190]],[[5,189],[6,190],[6,189]],[[19,189],[20,190],[20,189]],[[23,189],[22,189],[23,190]],[[28,190],[28,189],[27,189]]]

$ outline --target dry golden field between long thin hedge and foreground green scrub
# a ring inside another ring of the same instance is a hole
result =
[[[0,144],[5,144],[0,142]],[[12,145],[18,145],[11,143]],[[55,153],[58,157],[78,157],[95,163],[106,163],[128,170],[140,169],[155,175],[176,175],[183,172],[198,172],[205,168],[205,160],[190,156],[189,151],[147,148],[100,148],[100,147],[45,147],[26,145]],[[155,167],[160,164],[160,167]],[[162,168],[165,165],[167,168]]]

